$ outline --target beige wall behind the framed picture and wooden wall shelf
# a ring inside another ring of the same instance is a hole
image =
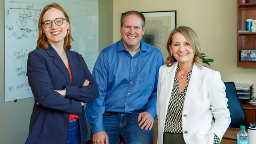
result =
[[[256,68],[236,67],[235,0],[114,0],[114,42],[121,38],[121,15],[129,10],[176,10],[177,26],[189,26],[196,31],[201,52],[215,60],[211,69],[221,73],[223,82],[253,83],[256,86]]]

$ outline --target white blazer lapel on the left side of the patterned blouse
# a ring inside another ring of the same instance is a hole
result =
[[[172,89],[173,89],[173,81],[174,81],[174,77],[175,77],[175,71],[177,69],[178,66],[178,62],[175,62],[174,65],[172,67],[170,67],[167,70],[167,74],[165,76],[165,104],[169,105],[170,102],[170,98],[171,98],[171,93],[172,93]]]

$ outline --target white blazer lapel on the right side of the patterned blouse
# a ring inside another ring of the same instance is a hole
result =
[[[183,110],[185,110],[188,106],[191,98],[194,97],[195,92],[197,91],[198,85],[201,83],[203,71],[194,63],[192,74],[188,84],[188,90],[185,96],[185,101],[183,105]]]

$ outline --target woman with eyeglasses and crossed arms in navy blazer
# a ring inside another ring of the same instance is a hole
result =
[[[85,143],[84,103],[98,97],[98,84],[82,55],[70,51],[70,21],[59,4],[44,7],[38,31],[27,62],[35,104],[26,143]]]

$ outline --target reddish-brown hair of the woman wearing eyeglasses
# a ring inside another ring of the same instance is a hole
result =
[[[65,10],[57,3],[51,3],[49,5],[46,5],[44,7],[44,9],[42,10],[40,17],[39,17],[39,21],[38,21],[38,39],[37,39],[37,45],[36,45],[36,49],[39,49],[41,47],[43,47],[45,50],[48,50],[48,40],[47,37],[45,36],[45,34],[43,33],[43,15],[45,14],[46,11],[55,8],[58,9],[60,11],[63,12],[65,18],[68,20],[69,22],[69,18],[68,18],[68,14],[65,12]],[[70,50],[71,49],[71,45],[70,42],[74,41],[72,35],[71,35],[71,26],[70,26],[70,22],[69,22],[69,28],[68,28],[68,32],[67,32],[67,36],[64,39],[64,49],[65,50]]]

